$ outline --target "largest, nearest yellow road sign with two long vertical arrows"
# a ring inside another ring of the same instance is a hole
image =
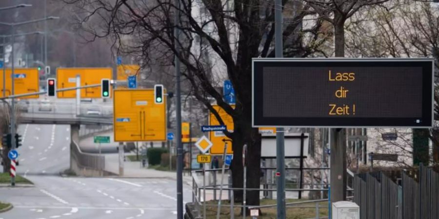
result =
[[[163,104],[155,104],[153,89],[113,94],[114,141],[166,141],[166,96]]]

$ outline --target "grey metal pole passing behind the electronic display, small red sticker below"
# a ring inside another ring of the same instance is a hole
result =
[[[275,52],[276,57],[283,57],[282,42],[282,0],[275,1]],[[276,128],[276,165],[277,182],[277,218],[285,219],[285,147],[284,129]]]

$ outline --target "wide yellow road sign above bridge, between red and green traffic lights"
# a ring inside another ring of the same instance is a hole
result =
[[[76,87],[76,75],[78,74],[81,77],[81,86],[100,84],[104,78],[113,78],[111,68],[57,68],[57,89]],[[75,98],[76,91],[58,92],[57,96],[58,98]],[[100,87],[81,89],[81,98],[101,98]]]

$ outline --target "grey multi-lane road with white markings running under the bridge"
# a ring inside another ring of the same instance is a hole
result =
[[[174,219],[172,179],[61,177],[69,166],[69,126],[22,125],[18,172],[35,187],[0,187],[0,201],[14,205],[0,219]],[[189,186],[183,187],[190,201]]]

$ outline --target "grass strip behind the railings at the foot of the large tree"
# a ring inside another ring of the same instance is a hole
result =
[[[297,199],[288,199],[286,200],[287,203],[290,202],[298,202],[298,201],[307,201],[307,200],[297,200]],[[222,204],[228,205],[230,204],[229,201],[222,201]],[[207,201],[206,204],[214,204],[217,206],[207,206],[206,207],[206,218],[207,219],[216,219],[217,216],[217,208],[218,208],[218,201]],[[260,200],[260,205],[268,205],[268,204],[276,204],[276,200],[268,200],[268,199],[262,199]],[[320,202],[319,204],[319,215],[320,217],[327,217],[328,216],[328,202]],[[202,206],[201,206],[202,207]],[[240,216],[240,208],[235,207],[233,214],[235,215],[235,218],[242,217]],[[202,211],[202,208],[201,208]],[[276,207],[271,208],[262,208],[261,212],[259,213],[258,219],[276,219],[277,209]],[[309,218],[315,218],[316,217],[316,204],[315,203],[306,203],[306,204],[299,204],[295,205],[294,207],[287,207],[286,208],[286,219],[309,219]],[[221,207],[221,213],[220,213],[221,219],[229,219],[230,218],[230,206],[227,207]]]

